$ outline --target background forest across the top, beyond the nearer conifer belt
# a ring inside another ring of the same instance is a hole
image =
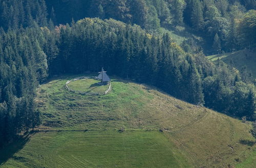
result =
[[[66,24],[84,17],[113,18],[147,32],[188,25],[208,41],[211,53],[256,46],[254,0],[0,0],[0,27]],[[249,11],[250,10],[250,11]]]

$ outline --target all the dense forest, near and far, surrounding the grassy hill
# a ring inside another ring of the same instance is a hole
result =
[[[190,27],[211,39],[215,52],[253,48],[253,0],[0,4],[0,146],[40,124],[34,101],[40,83],[54,75],[98,72],[102,66],[111,75],[156,86],[187,102],[255,119],[254,79],[246,69],[210,63],[197,44],[188,40],[180,46],[159,30]]]

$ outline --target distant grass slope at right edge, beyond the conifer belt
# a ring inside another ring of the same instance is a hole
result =
[[[210,61],[217,61],[218,58],[226,64],[236,67],[238,70],[245,65],[253,77],[256,77],[256,50],[244,49],[236,52],[211,55],[207,57]]]

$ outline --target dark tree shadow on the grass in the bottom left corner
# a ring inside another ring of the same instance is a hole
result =
[[[30,137],[35,134],[33,133],[28,133],[27,135],[18,138],[15,142],[12,144],[4,147],[3,149],[0,149],[0,167],[15,153],[18,151],[22,150],[24,146],[28,143]]]

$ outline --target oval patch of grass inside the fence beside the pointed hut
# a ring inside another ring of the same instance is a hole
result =
[[[95,79],[80,79],[72,81],[68,87],[75,91],[89,92],[89,93],[104,93],[109,89],[109,85],[100,85],[100,80]]]

